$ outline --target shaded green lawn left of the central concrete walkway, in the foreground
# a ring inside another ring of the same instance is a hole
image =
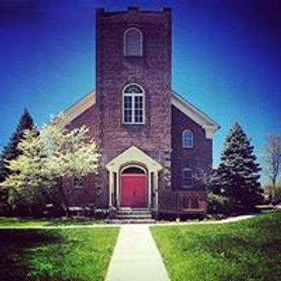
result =
[[[0,280],[103,280],[118,232],[119,228],[0,230]]]

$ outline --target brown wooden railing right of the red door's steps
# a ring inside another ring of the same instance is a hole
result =
[[[158,195],[159,212],[174,214],[204,214],[207,211],[207,192],[162,191]]]

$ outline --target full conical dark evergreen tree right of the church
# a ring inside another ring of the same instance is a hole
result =
[[[235,122],[226,136],[216,175],[221,192],[229,198],[233,211],[254,209],[261,202],[260,171],[254,146],[240,124]]]

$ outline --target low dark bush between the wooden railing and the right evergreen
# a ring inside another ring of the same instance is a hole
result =
[[[223,195],[213,192],[208,193],[208,213],[209,214],[230,214],[230,200]]]

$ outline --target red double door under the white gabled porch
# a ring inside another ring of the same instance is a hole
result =
[[[147,207],[145,174],[124,174],[121,175],[120,182],[122,207]]]

